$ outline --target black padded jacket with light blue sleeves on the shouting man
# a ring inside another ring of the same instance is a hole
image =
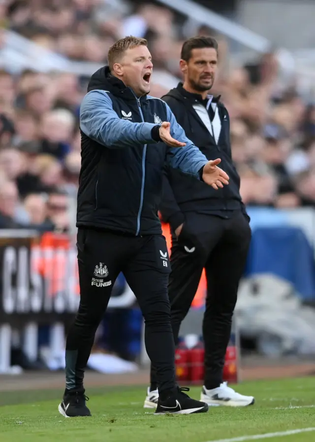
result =
[[[172,137],[185,147],[159,142],[162,121],[171,123]],[[207,163],[162,100],[137,98],[106,67],[91,77],[80,109],[80,130],[78,227],[161,233],[158,207],[165,162],[196,182]]]

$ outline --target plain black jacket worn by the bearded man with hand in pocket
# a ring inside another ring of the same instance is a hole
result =
[[[239,192],[240,177],[232,162],[229,115],[220,103],[220,97],[212,98],[211,101],[218,108],[221,119],[218,143],[192,107],[196,102],[206,107],[208,99],[202,100],[200,95],[187,92],[182,83],[171,89],[162,99],[174,113],[187,137],[209,160],[221,158],[219,167],[230,177],[228,185],[215,190],[200,181],[190,179],[179,170],[166,167],[163,178],[163,198],[160,205],[163,221],[169,222],[171,227],[176,229],[185,221],[186,212],[217,214],[242,209],[247,216]]]

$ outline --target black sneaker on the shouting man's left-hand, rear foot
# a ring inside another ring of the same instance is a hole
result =
[[[64,417],[91,416],[91,411],[85,404],[89,398],[84,393],[84,388],[65,390],[63,402],[58,406],[60,414]]]

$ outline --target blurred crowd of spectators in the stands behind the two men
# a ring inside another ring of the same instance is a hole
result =
[[[220,64],[213,93],[230,113],[245,204],[314,204],[315,106],[299,96],[294,78],[285,87],[279,82],[273,53],[237,66],[224,37],[139,1],[1,0],[0,24],[68,59],[100,65],[116,39],[145,37],[155,69],[151,94],[157,97],[181,80],[183,41],[197,34],[217,37]],[[0,228],[69,229],[67,204],[78,185],[78,116],[87,81],[58,71],[0,70]]]

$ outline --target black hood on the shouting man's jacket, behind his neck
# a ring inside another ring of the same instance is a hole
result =
[[[123,96],[124,100],[134,100],[135,94],[130,87],[127,87],[122,80],[110,73],[108,66],[98,69],[90,78],[88,92],[95,89],[109,91],[116,96]],[[141,97],[141,100],[146,97]]]

